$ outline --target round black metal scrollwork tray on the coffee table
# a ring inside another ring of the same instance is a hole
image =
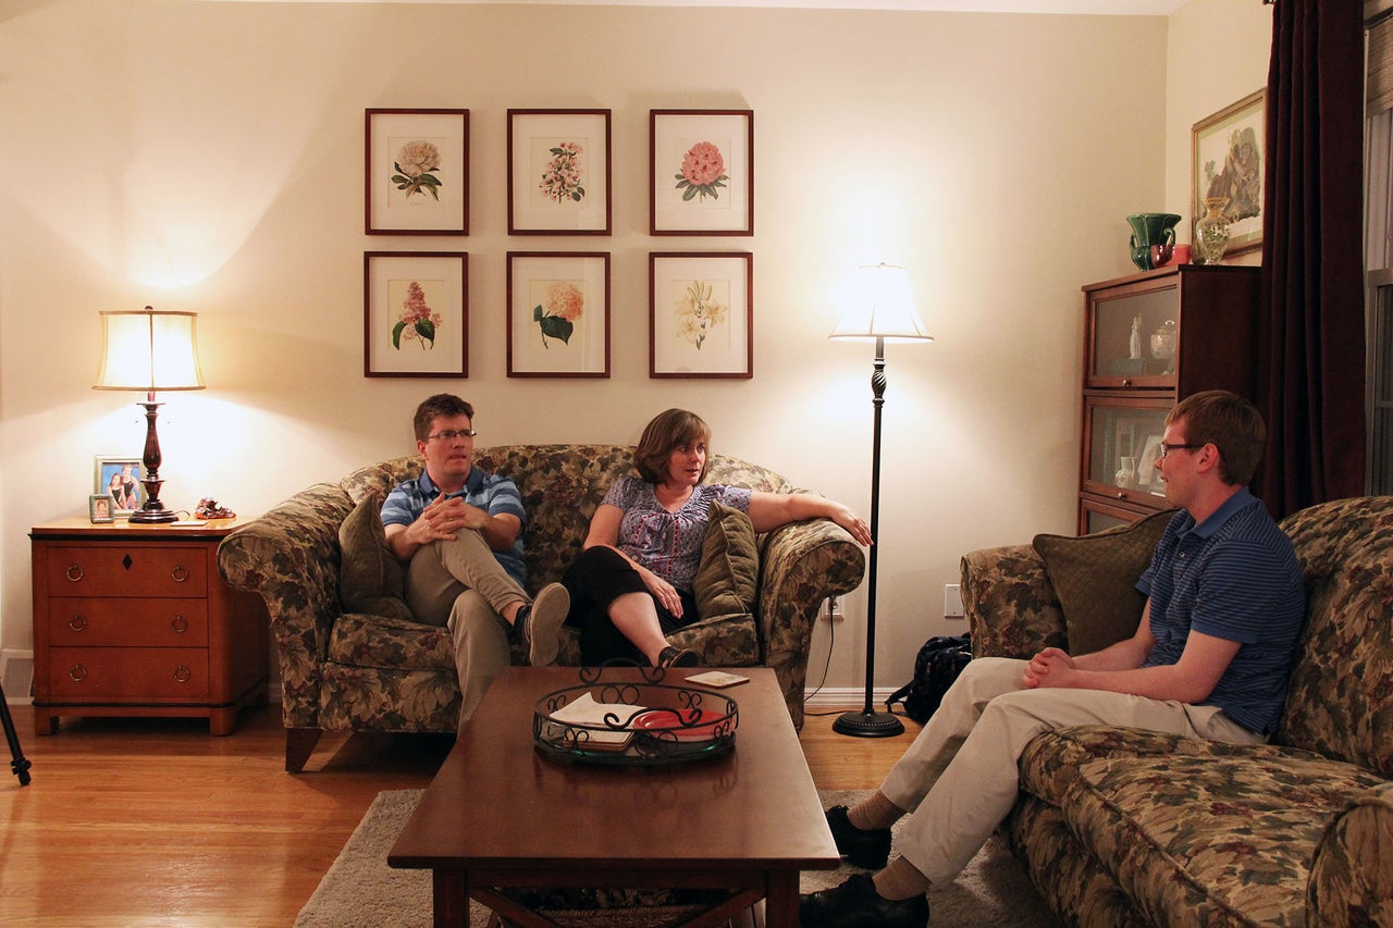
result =
[[[581,667],[577,686],[538,701],[532,741],[539,751],[564,761],[645,766],[736,747],[740,706],[730,697],[663,683],[660,667],[639,667],[639,680],[605,680],[607,666]]]

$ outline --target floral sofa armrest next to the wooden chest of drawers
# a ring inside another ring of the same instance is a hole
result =
[[[280,655],[286,727],[315,727],[319,667],[338,608],[338,525],[351,502],[316,484],[230,534],[217,546],[227,585],[260,594]]]

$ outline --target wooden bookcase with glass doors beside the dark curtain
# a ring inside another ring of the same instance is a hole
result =
[[[1252,397],[1258,268],[1176,265],[1084,287],[1078,531],[1169,509],[1155,461],[1191,393]]]

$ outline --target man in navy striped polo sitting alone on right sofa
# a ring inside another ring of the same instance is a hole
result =
[[[1081,656],[968,663],[880,790],[827,811],[837,849],[883,869],[804,896],[805,928],[926,925],[925,890],[951,882],[1010,812],[1017,759],[1041,732],[1121,725],[1254,743],[1276,730],[1305,589],[1291,541],[1247,490],[1265,440],[1262,415],[1234,393],[1170,411],[1156,470],[1181,511],[1137,581],[1137,634]]]

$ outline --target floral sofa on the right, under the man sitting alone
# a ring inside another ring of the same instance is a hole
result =
[[[1309,614],[1270,744],[1088,726],[1027,745],[1002,830],[1064,924],[1393,925],[1393,497],[1283,528]],[[976,655],[1068,647],[1031,545],[965,555],[963,599]]]

